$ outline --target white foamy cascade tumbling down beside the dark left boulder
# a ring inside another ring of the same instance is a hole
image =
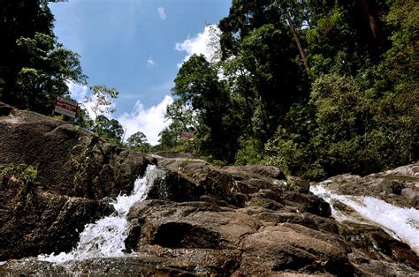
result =
[[[143,177],[134,183],[131,195],[120,195],[111,203],[116,210],[95,223],[87,224],[80,233],[80,242],[71,252],[61,252],[58,255],[39,255],[40,260],[53,263],[65,263],[70,260],[83,260],[86,258],[120,257],[124,255],[125,239],[128,234],[126,227],[126,214],[133,204],[147,196],[149,187],[157,176],[163,177],[163,171],[156,166],[149,166]]]

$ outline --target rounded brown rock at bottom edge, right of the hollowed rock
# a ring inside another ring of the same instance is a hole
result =
[[[325,242],[314,230],[301,232],[293,224],[268,226],[243,239],[240,268],[236,274],[266,275],[291,270],[298,273],[327,272],[350,275],[353,267],[345,244]]]

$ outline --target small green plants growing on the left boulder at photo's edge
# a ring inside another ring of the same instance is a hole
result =
[[[0,164],[0,185],[13,187],[17,190],[14,198],[14,210],[25,209],[28,193],[40,183],[37,167],[20,164]]]

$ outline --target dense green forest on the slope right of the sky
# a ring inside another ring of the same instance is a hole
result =
[[[418,19],[407,1],[235,0],[222,61],[180,68],[162,145],[186,149],[193,127],[208,161],[312,179],[415,161]]]

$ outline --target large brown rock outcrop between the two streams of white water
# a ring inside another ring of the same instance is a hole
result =
[[[417,256],[407,244],[380,228],[363,244],[353,243],[368,230],[351,232],[350,223],[332,220],[330,206],[307,183],[286,179],[278,168],[157,160],[166,174],[128,213],[127,251],[164,258],[164,265],[181,263],[197,274],[416,273]],[[375,255],[368,255],[374,246]],[[367,260],[375,265],[371,270]]]

